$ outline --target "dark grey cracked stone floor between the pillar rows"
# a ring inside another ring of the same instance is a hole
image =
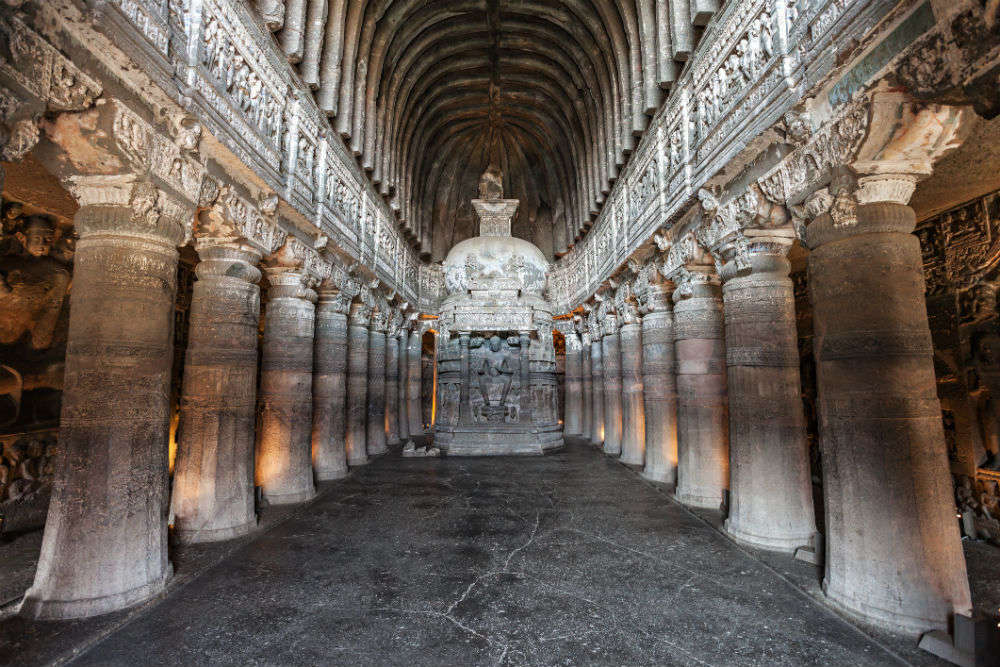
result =
[[[6,619],[0,664],[943,664],[842,620],[815,568],[717,520],[583,444],[391,454],[254,538],[172,553],[175,582],[138,609]]]

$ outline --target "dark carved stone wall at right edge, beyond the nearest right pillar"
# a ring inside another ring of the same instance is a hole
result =
[[[966,532],[1000,544],[1000,191],[922,221],[916,234],[956,500],[971,515]]]

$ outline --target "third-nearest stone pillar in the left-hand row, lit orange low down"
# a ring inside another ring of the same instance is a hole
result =
[[[280,257],[280,255],[279,255]],[[316,293],[308,276],[279,259],[270,283],[261,348],[257,485],[271,504],[316,493],[312,474],[312,374]]]

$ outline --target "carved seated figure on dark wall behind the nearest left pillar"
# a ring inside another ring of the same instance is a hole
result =
[[[28,217],[14,236],[21,250],[0,260],[0,343],[15,343],[27,332],[31,347],[44,350],[52,344],[69,271],[50,256],[55,226],[47,218]]]

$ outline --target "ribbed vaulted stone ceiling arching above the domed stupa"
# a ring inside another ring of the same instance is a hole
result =
[[[493,162],[521,200],[514,235],[553,257],[599,210],[715,8],[287,0],[278,38],[422,253],[476,235],[468,201]]]

